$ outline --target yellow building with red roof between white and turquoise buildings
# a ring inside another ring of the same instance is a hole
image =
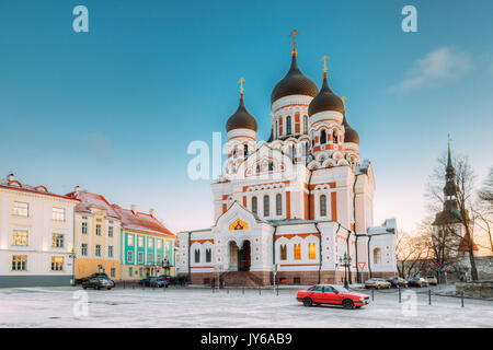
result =
[[[76,190],[67,196],[80,200],[76,207],[76,279],[105,272],[121,279],[121,219],[101,195]]]

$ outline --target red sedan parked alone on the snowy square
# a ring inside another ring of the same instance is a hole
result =
[[[341,285],[316,284],[306,291],[298,291],[296,300],[305,306],[313,304],[342,305],[344,308],[359,308],[369,303],[369,296],[362,293],[354,293]]]

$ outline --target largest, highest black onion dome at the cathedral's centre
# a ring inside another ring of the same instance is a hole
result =
[[[293,55],[291,67],[287,74],[276,84],[271,95],[271,103],[290,95],[306,95],[314,97],[319,90],[317,85],[301,73],[296,55]]]

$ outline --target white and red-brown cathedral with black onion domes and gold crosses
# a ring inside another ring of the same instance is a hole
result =
[[[395,220],[374,223],[374,171],[359,158],[344,97],[329,84],[326,58],[320,90],[303,75],[293,42],[289,70],[271,95],[271,138],[257,142],[241,89],[226,122],[228,160],[211,185],[214,224],[177,235],[177,275],[193,284],[342,284],[395,275]]]

